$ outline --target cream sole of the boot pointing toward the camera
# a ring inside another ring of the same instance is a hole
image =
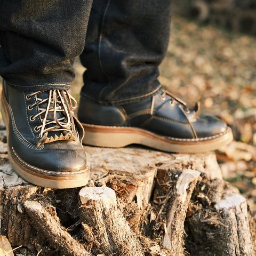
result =
[[[4,98],[4,95],[2,93],[1,97],[1,112],[3,116],[3,121],[6,126],[7,131],[7,140],[9,136],[9,111],[7,109],[7,102]],[[8,143],[8,141],[7,141]],[[8,144],[9,145],[9,144]],[[41,187],[48,187],[48,188],[57,188],[57,189],[63,189],[63,188],[76,188],[76,187],[82,187],[85,186],[90,178],[90,167],[87,166],[86,169],[79,171],[78,174],[66,174],[66,175],[47,175],[47,174],[39,174],[37,172],[33,172],[30,169],[28,169],[26,166],[22,165],[17,157],[14,155],[14,150],[12,150],[8,146],[8,154],[10,163],[13,166],[13,169],[15,172],[17,172],[20,177],[25,179],[26,181],[33,183],[34,185],[41,186]],[[24,161],[23,161],[24,162]],[[24,162],[25,163],[25,162]],[[29,166],[29,164],[25,164]],[[46,172],[45,170],[42,170],[42,172]]]

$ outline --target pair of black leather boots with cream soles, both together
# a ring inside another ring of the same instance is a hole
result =
[[[226,145],[231,129],[217,117],[199,116],[198,105],[160,89],[123,105],[103,105],[65,90],[23,92],[4,81],[1,110],[14,170],[35,185],[86,185],[85,145],[118,148],[133,143],[175,153],[202,153]]]

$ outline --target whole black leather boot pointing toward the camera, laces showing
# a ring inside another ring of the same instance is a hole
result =
[[[89,181],[77,103],[66,90],[25,92],[3,83],[1,110],[10,163],[42,187],[74,188]]]

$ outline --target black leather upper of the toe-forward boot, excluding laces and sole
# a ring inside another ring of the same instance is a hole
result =
[[[3,90],[10,119],[9,147],[20,164],[36,172],[37,169],[53,171],[53,175],[54,172],[58,175],[58,172],[72,173],[86,169],[86,154],[81,144],[83,128],[76,119],[75,141],[54,141],[37,146],[40,138],[36,127],[42,124],[42,120],[37,117],[31,121],[30,117],[38,113],[38,108],[28,108],[35,102],[35,97],[28,100],[27,92],[13,89],[7,83],[4,83]]]

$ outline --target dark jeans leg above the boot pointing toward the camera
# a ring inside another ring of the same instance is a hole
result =
[[[0,0],[0,75],[21,90],[68,89],[92,0]]]

